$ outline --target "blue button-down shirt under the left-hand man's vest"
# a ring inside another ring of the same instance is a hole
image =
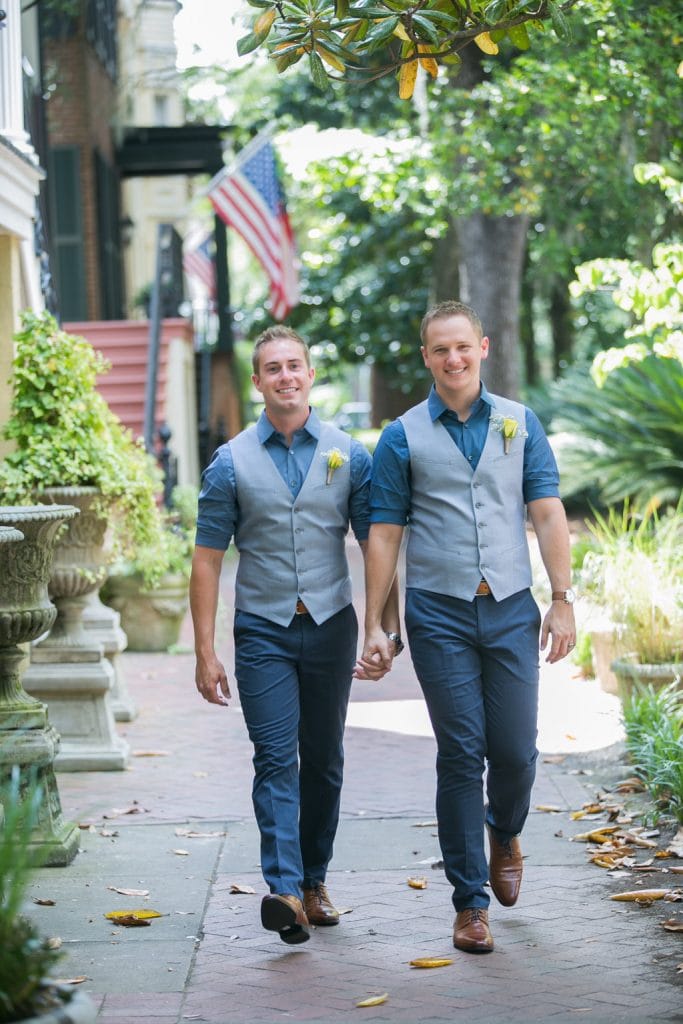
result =
[[[321,437],[321,421],[311,410],[300,430],[294,432],[292,443],[275,430],[265,412],[256,424],[256,435],[264,444],[278,472],[292,492],[293,498],[301,490],[315,447]],[[349,521],[358,541],[365,541],[370,531],[370,476],[372,460],[359,441],[351,439],[351,493],[349,496]],[[222,444],[213,456],[202,475],[199,498],[196,543],[205,548],[227,547],[234,535],[240,516],[237,501],[234,465],[228,444]]]

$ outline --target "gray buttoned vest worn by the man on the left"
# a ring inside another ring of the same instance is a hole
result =
[[[278,472],[256,428],[229,442],[237,479],[240,552],[234,606],[289,626],[300,597],[319,625],[351,601],[346,561],[351,492],[351,438],[321,425],[313,461],[295,498]],[[338,447],[349,461],[326,482],[324,452]]]

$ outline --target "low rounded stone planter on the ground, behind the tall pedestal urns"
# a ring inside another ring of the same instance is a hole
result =
[[[105,600],[121,614],[128,650],[163,651],[178,642],[189,603],[189,584],[181,572],[167,572],[156,587],[140,577],[110,577]]]

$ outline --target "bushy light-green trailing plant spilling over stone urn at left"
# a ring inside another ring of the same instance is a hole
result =
[[[68,487],[67,504],[110,520],[119,552],[150,545],[161,474],[96,390],[109,364],[47,312],[25,312],[14,340],[10,415],[2,430],[13,451],[0,461],[2,504],[59,502],[58,488]],[[89,561],[88,572],[103,577]]]

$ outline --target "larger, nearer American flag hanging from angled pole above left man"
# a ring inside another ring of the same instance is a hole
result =
[[[270,281],[270,312],[285,319],[299,301],[294,234],[278,179],[275,154],[257,136],[236,165],[209,185],[216,213],[245,240]]]

